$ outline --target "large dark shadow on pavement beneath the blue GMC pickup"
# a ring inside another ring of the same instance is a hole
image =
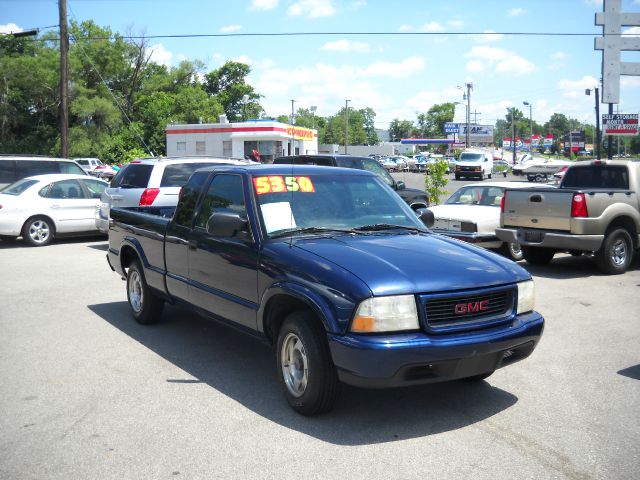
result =
[[[184,388],[206,383],[258,415],[332,444],[367,445],[456,430],[518,401],[486,381],[391,390],[342,385],[334,410],[307,418],[289,408],[278,384],[273,350],[250,336],[174,306],[167,306],[162,321],[153,326],[135,323],[127,302],[88,308],[188,377],[162,381]]]

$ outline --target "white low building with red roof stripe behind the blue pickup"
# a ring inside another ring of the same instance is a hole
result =
[[[318,132],[275,120],[178,125],[166,128],[167,156],[206,155],[269,162],[281,155],[318,153]]]

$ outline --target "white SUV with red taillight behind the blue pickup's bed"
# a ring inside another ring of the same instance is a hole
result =
[[[133,160],[120,169],[100,197],[96,226],[109,231],[111,207],[175,207],[180,189],[199,168],[247,165],[251,160],[213,157],[157,157]]]

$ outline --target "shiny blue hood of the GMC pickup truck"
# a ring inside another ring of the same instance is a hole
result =
[[[374,295],[454,291],[530,278],[504,257],[435,234],[337,235],[297,239],[294,245],[351,272]]]

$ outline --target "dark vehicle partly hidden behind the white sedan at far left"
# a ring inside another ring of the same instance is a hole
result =
[[[80,165],[68,158],[37,155],[0,155],[0,188],[22,178],[45,173],[88,175]]]

